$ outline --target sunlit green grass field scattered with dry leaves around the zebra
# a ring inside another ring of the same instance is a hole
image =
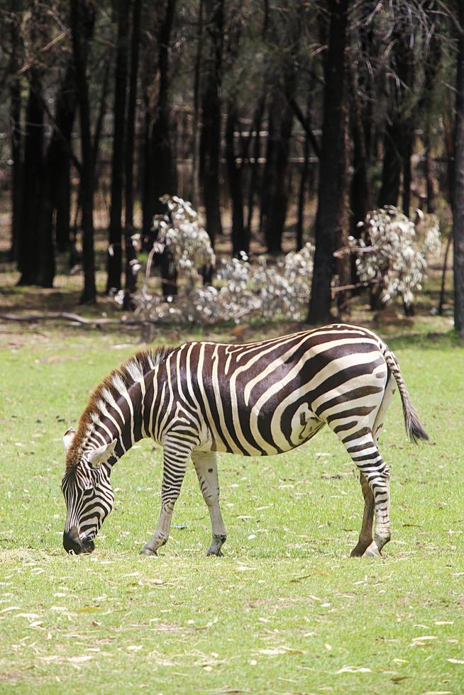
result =
[[[348,557],[362,497],[328,429],[280,457],[219,457],[223,558],[205,556],[193,467],[169,543],[138,555],[161,477],[160,450],[142,442],[114,470],[116,508],[96,551],[72,557],[62,550],[62,434],[139,346],[95,330],[9,329],[0,692],[464,692],[464,352],[446,333],[388,342],[431,442],[407,442],[396,396],[380,443],[393,534],[381,560]]]

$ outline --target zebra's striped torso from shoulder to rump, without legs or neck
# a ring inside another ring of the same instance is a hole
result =
[[[332,324],[245,345],[186,343],[170,356],[172,389],[206,423],[202,447],[272,455],[328,422],[377,408],[388,368],[380,338]],[[348,415],[346,415],[348,413]]]

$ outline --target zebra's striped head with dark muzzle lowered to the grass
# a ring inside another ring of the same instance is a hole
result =
[[[70,429],[63,437],[68,457],[61,484],[66,502],[63,546],[66,552],[79,555],[94,550],[94,538],[114,505],[108,460],[116,440],[89,450],[70,450],[74,435],[75,430]]]

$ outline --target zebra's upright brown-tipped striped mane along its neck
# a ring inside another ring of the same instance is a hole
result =
[[[145,377],[164,362],[175,348],[162,345],[155,349],[140,350],[129,357],[122,365],[113,369],[92,392],[89,402],[79,418],[77,431],[66,455],[66,469],[70,470],[79,462],[79,450],[87,441],[101,413],[101,404],[111,406],[111,401],[117,400],[123,389],[129,389],[133,384]]]

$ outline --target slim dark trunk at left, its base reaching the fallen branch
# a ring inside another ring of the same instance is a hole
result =
[[[87,84],[87,57],[89,40],[95,20],[93,0],[71,0],[72,52],[76,85],[79,94],[79,116],[81,131],[82,172],[82,264],[84,266],[84,289],[81,303],[94,303],[95,257],[94,257],[94,162],[90,132],[89,87]]]

